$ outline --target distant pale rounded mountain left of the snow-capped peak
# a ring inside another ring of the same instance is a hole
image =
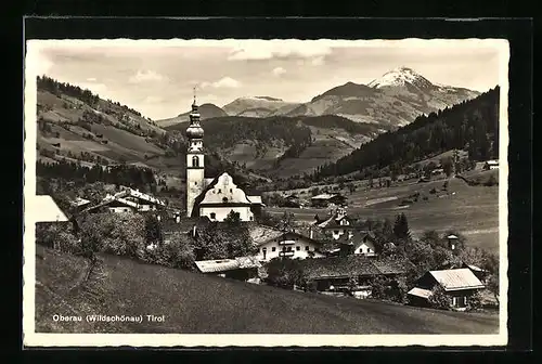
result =
[[[268,117],[283,115],[297,106],[299,103],[270,96],[254,96],[235,99],[222,108],[230,116]]]

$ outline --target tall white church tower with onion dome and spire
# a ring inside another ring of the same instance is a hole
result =
[[[190,113],[190,126],[186,129],[189,148],[186,151],[186,216],[192,217],[194,202],[205,187],[205,153],[203,150],[204,130],[199,125],[199,112],[196,104],[194,88],[194,103]]]

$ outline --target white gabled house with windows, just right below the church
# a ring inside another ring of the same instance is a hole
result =
[[[249,229],[253,242],[258,246],[257,258],[270,261],[273,258],[323,258],[322,243],[299,232],[254,225]]]

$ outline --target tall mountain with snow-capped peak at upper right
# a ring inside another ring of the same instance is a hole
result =
[[[408,67],[384,74],[369,84],[347,82],[313,98],[286,116],[338,115],[353,121],[400,127],[476,98],[477,91],[431,83]]]

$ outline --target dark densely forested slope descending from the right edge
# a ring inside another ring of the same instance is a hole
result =
[[[327,164],[313,180],[331,176],[402,167],[450,150],[465,150],[470,160],[499,157],[499,87],[478,98],[417,117],[412,123],[386,132],[361,145],[348,156]]]

